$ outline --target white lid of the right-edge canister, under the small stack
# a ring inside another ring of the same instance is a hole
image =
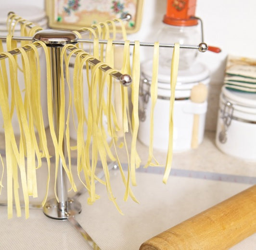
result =
[[[222,93],[230,102],[234,104],[256,108],[256,93],[239,92],[222,87]]]

